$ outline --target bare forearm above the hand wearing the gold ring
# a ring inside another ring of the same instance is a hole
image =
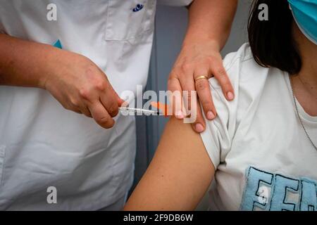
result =
[[[213,41],[220,51],[230,34],[237,0],[194,0],[189,7],[189,25],[184,45]]]

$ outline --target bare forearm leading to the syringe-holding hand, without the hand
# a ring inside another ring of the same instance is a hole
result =
[[[43,87],[44,65],[58,49],[0,34],[0,85]]]

